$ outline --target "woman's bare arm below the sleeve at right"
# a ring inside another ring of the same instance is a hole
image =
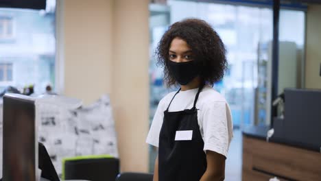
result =
[[[225,156],[206,151],[207,168],[200,181],[221,181],[225,178]]]

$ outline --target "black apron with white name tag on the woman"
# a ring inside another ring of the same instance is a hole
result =
[[[198,110],[195,108],[198,95],[195,95],[193,108],[177,112],[164,111],[163,125],[159,135],[158,179],[159,181],[199,181],[206,171],[204,141],[198,125]],[[188,141],[175,141],[176,131],[193,130]]]

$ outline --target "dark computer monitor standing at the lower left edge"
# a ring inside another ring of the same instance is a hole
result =
[[[3,181],[36,181],[35,99],[24,95],[3,97]]]

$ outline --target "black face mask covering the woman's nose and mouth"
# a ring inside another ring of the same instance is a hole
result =
[[[169,73],[174,76],[178,84],[185,86],[200,74],[200,66],[195,60],[189,62],[168,61]]]

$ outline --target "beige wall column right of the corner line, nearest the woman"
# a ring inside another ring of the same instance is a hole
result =
[[[115,0],[112,106],[117,120],[121,169],[147,171],[149,116],[148,0]]]

